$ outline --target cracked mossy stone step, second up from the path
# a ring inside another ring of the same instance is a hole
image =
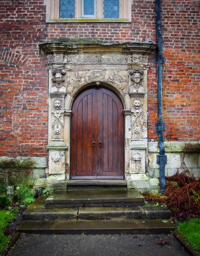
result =
[[[104,220],[104,219],[168,219],[171,212],[165,207],[28,207],[23,220]]]

